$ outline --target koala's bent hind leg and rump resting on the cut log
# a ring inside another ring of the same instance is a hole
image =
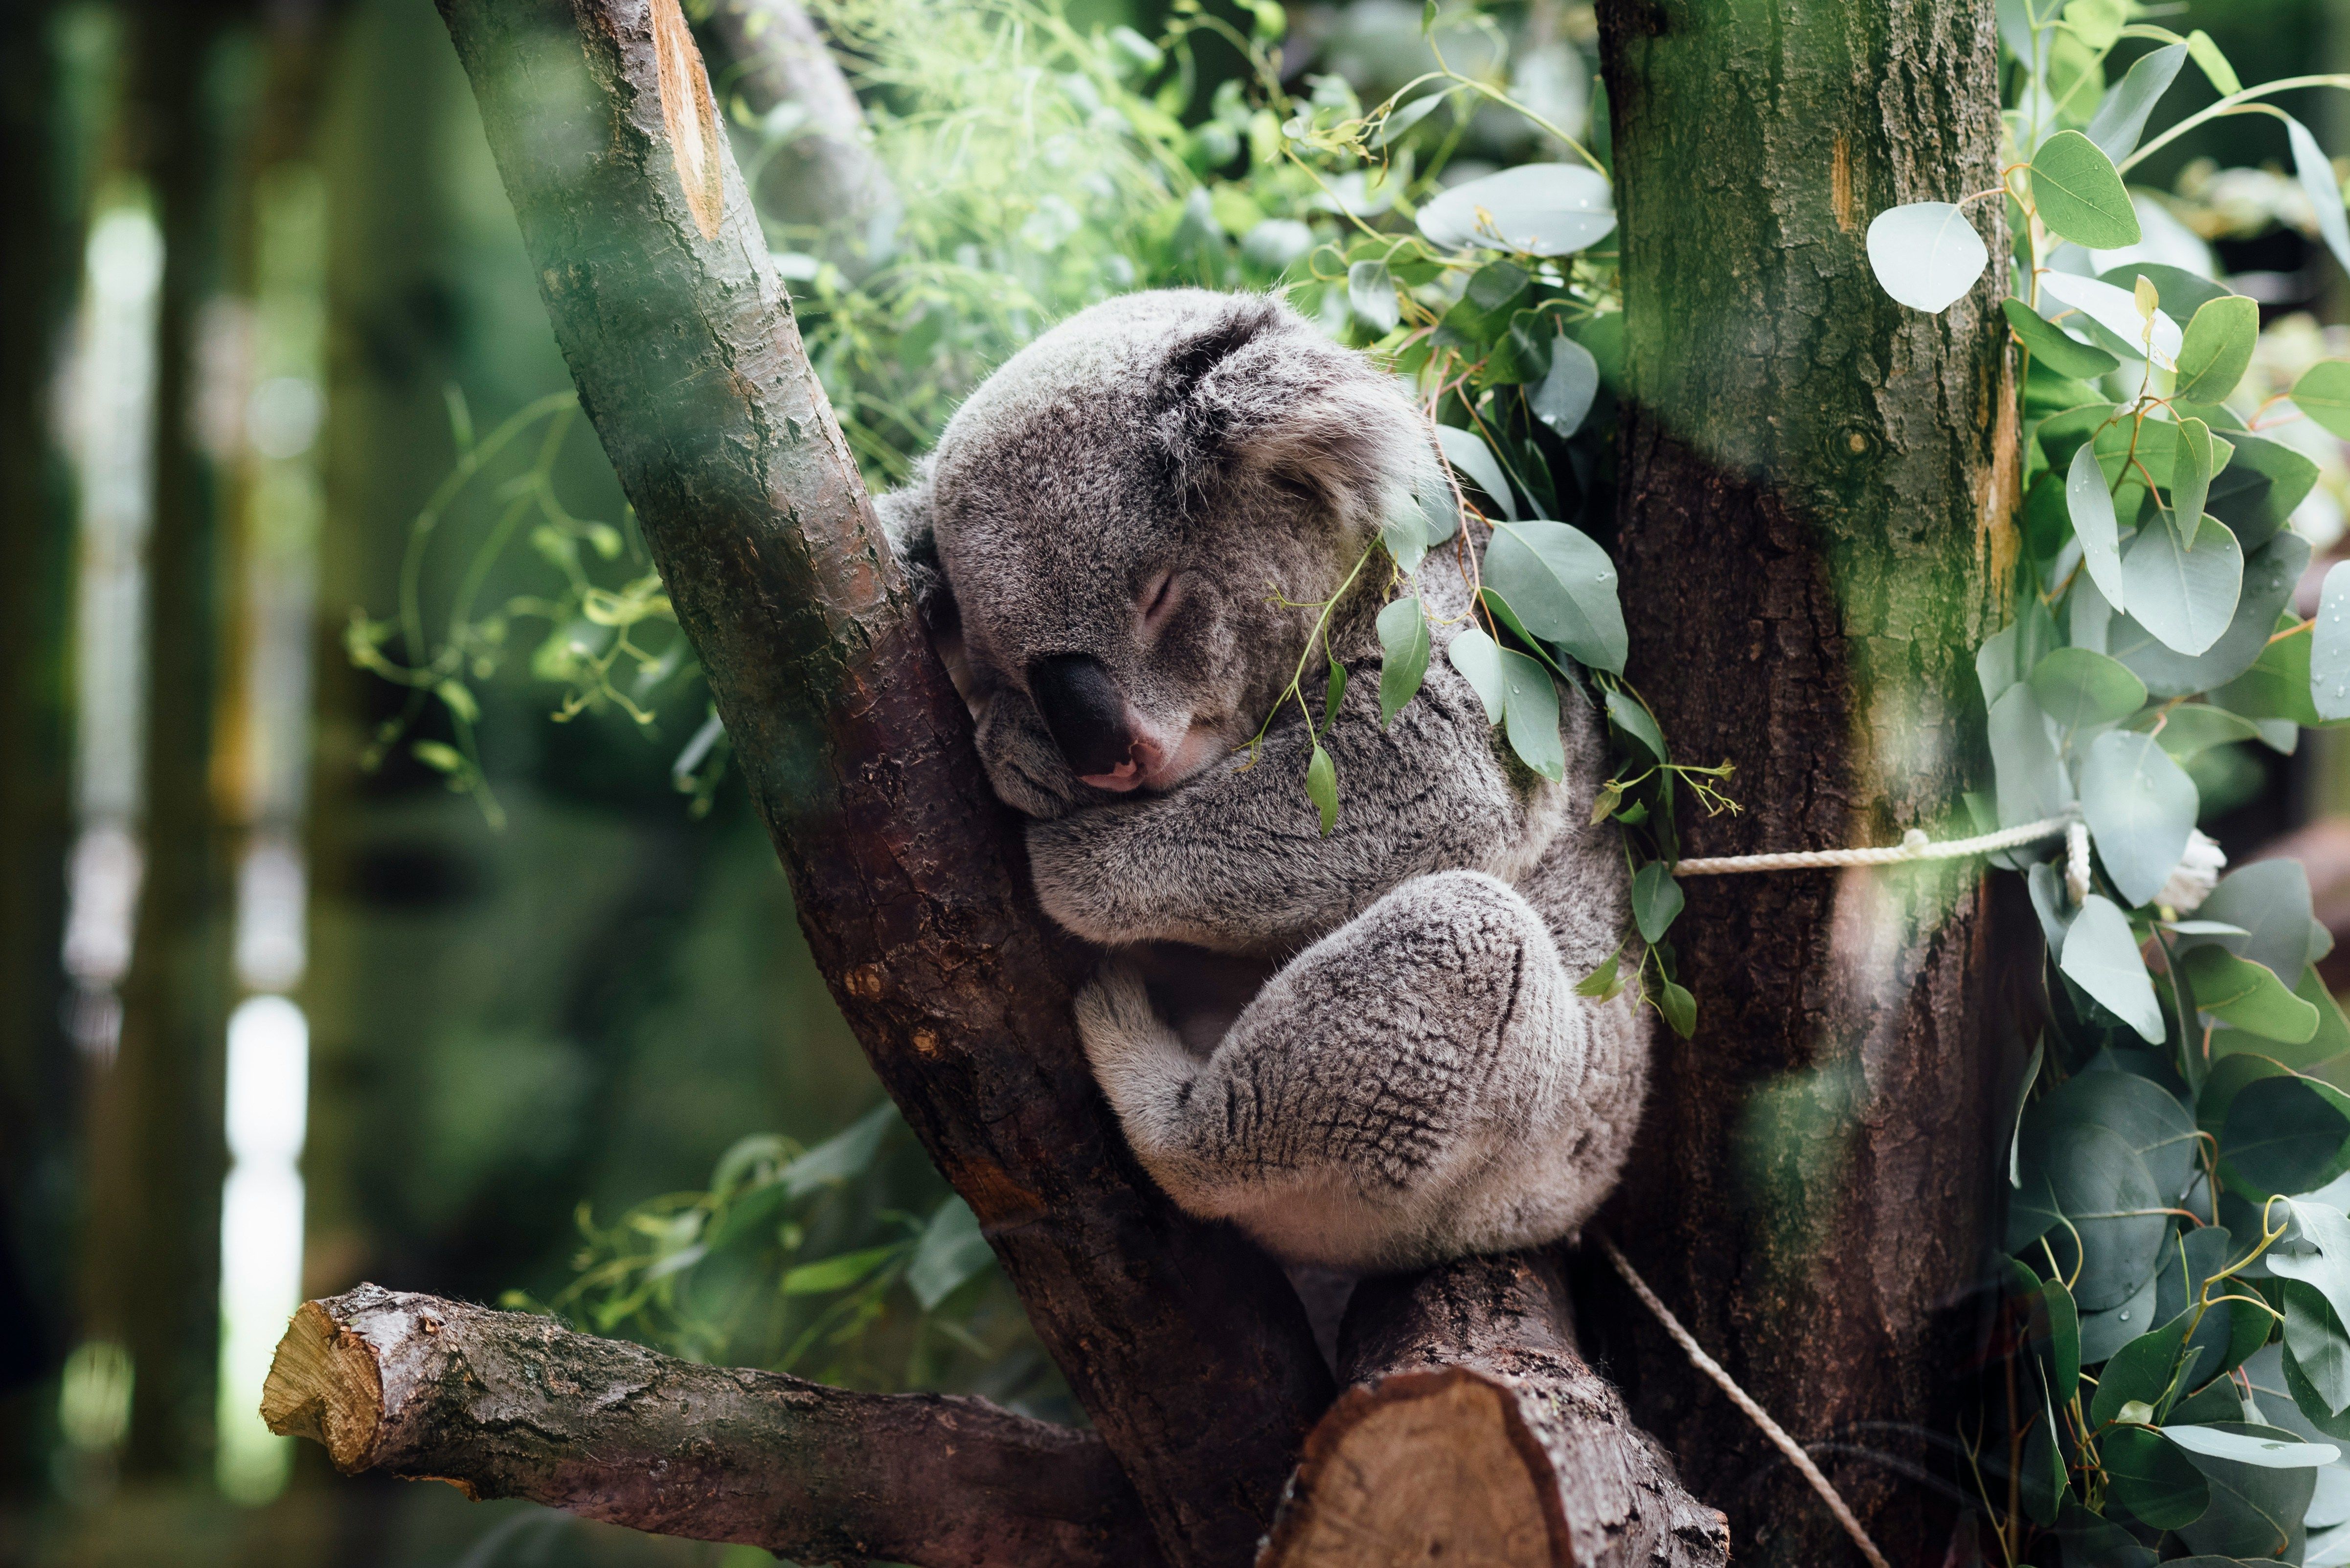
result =
[[[1076,1016],[1152,1176],[1292,1263],[1551,1239],[1614,1176],[1577,1120],[1591,1047],[1619,1054],[1631,1012],[1577,998],[1542,918],[1476,871],[1412,878],[1316,941],[1206,1059],[1123,965]]]

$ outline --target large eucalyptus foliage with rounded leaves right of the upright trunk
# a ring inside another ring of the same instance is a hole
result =
[[[2016,1378],[1969,1460],[2012,1563],[2350,1561],[2350,1467],[2326,1441],[2350,1434],[2350,1026],[2310,967],[2326,937],[2305,873],[2263,861],[2214,887],[2207,775],[2188,772],[2350,716],[2350,631],[2329,620],[2350,580],[2341,596],[2329,580],[2315,622],[2287,610],[2308,545],[2282,528],[2317,474],[2254,434],[2254,300],[2167,265],[2084,277],[2063,249],[2136,242],[2127,169],[2204,120],[2275,113],[2277,85],[2244,89],[2209,38],[2120,0],[2049,12],[2000,7],[2002,188],[1871,228],[1885,291],[1941,310],[1988,265],[1958,277],[1948,214],[2005,195],[2019,216],[2000,277],[2023,559],[1976,671],[2000,822],[2075,822],[2054,859],[2019,857],[2049,941],[2047,1035],[2009,1162]],[[2122,38],[2157,47],[2103,89]],[[2188,59],[2223,99],[2141,146]],[[2331,164],[2284,127],[2350,265]],[[2350,430],[2350,364],[2294,394]]]

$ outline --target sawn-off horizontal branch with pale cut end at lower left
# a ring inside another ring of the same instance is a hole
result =
[[[726,1371],[362,1284],[294,1317],[261,1415],[336,1469],[449,1481],[808,1563],[1159,1561],[1090,1432],[947,1394]]]

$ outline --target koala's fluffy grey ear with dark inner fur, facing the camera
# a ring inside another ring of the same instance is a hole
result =
[[[1403,385],[1281,300],[1229,296],[1163,366],[1152,425],[1182,493],[1262,484],[1354,533],[1429,481],[1429,432]]]

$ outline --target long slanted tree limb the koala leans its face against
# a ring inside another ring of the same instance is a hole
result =
[[[1029,897],[677,0],[439,9],[818,967],[1168,1559],[1246,1561],[1330,1373],[1281,1272],[1149,1188],[1086,1070],[1081,960]]]

